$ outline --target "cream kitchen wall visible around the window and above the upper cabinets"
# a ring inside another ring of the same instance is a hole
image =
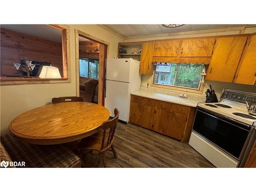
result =
[[[228,29],[227,29],[228,30]],[[187,37],[203,37],[203,36],[216,36],[216,35],[231,35],[231,34],[241,34],[241,33],[255,33],[256,27],[253,28],[246,28],[244,31],[236,30],[236,31],[223,31],[223,32],[209,32],[209,33],[198,33],[198,34],[182,34],[182,35],[168,35],[168,36],[159,36],[159,37],[140,37],[140,38],[132,38],[132,39],[125,39],[124,42],[134,42],[134,41],[146,41],[146,40],[157,40],[157,39],[172,39],[172,38],[187,38]],[[141,79],[141,86],[147,87],[147,83],[150,84],[151,82],[151,75],[142,75]],[[212,89],[215,90],[217,97],[219,98],[223,88],[226,89],[233,89],[233,90],[240,90],[246,92],[256,92],[256,86],[247,86],[244,84],[237,84],[237,83],[227,83],[227,82],[218,82],[218,81],[205,81],[205,87],[203,94],[196,94],[196,93],[186,93],[186,94],[193,94],[198,96],[205,96],[205,91],[209,89],[209,85],[211,84]],[[159,90],[166,90],[162,88],[150,87],[151,89],[159,89]],[[172,92],[184,93],[182,91],[170,90]]]

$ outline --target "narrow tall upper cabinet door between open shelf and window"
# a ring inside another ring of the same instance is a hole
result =
[[[140,74],[150,74],[154,42],[144,42],[140,57]]]

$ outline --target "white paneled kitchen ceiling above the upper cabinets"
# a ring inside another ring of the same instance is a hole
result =
[[[229,27],[245,27],[246,25],[183,25],[177,28],[166,28],[162,25],[103,25],[122,37],[156,35],[197,30],[220,29]]]

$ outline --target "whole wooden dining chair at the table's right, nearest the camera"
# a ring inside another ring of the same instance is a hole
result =
[[[80,149],[80,157],[84,151],[96,150],[101,155],[103,165],[106,167],[105,151],[112,151],[114,157],[117,158],[116,151],[113,145],[114,134],[116,131],[116,125],[119,117],[118,109],[114,110],[115,117],[111,120],[107,120],[102,123],[101,130],[89,137],[83,138],[78,147]],[[111,148],[111,149],[110,149]]]

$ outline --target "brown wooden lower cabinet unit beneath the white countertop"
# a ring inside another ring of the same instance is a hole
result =
[[[131,96],[130,122],[146,129],[188,142],[196,108]]]

